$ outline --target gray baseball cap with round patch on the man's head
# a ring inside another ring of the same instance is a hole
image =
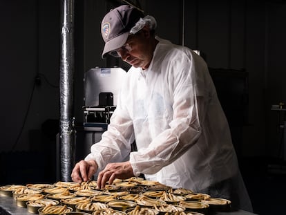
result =
[[[102,58],[117,48],[122,47],[129,31],[144,14],[132,6],[122,5],[108,12],[102,19],[102,38],[105,45]]]

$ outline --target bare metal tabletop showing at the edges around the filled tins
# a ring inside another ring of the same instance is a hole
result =
[[[16,205],[16,200],[10,196],[0,196],[0,215],[30,214],[25,207]],[[209,215],[254,215],[253,213],[238,210],[236,212],[213,212]]]

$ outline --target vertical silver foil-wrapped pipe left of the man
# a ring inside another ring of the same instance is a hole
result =
[[[75,131],[73,127],[74,73],[74,0],[61,0],[61,61],[60,95],[60,162],[61,180],[70,181],[75,161]]]

